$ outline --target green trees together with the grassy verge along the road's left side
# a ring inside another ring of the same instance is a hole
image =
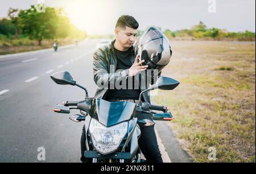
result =
[[[70,44],[87,36],[73,26],[61,8],[10,8],[7,15],[9,18],[0,19],[0,55],[49,48],[54,39],[60,45]]]

